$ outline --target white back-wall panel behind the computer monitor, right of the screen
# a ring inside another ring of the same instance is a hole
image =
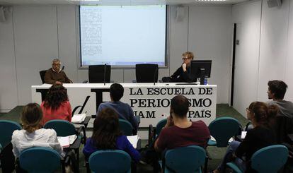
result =
[[[212,59],[211,78],[217,85],[217,102],[229,102],[231,59],[231,6],[190,6],[188,50],[195,59]]]

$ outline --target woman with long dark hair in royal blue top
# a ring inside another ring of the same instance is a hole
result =
[[[139,152],[122,135],[117,112],[113,109],[102,109],[93,122],[93,136],[86,140],[83,150],[86,160],[97,150],[124,150],[134,162],[140,159]]]

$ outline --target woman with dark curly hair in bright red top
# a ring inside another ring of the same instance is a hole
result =
[[[71,105],[66,89],[59,84],[54,84],[49,89],[45,100],[41,104],[42,124],[52,119],[64,119],[71,121]]]

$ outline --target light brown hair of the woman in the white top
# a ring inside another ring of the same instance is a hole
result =
[[[40,129],[40,121],[42,121],[42,109],[37,103],[29,103],[23,107],[21,113],[21,123],[23,129],[28,133],[33,133],[35,130]]]

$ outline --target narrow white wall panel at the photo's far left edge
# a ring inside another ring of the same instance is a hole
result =
[[[0,112],[7,112],[18,105],[12,7],[0,22],[0,80]]]

